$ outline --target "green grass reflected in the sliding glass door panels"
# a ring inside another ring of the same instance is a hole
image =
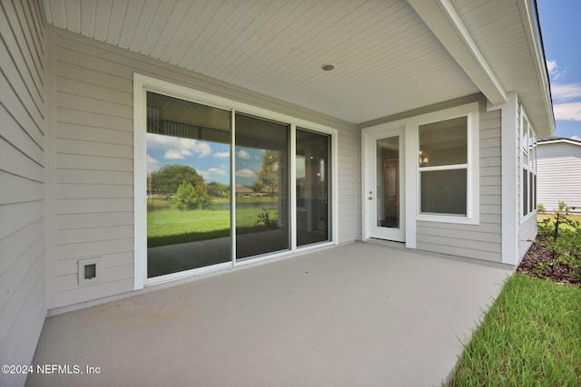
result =
[[[147,213],[147,247],[173,245],[176,243],[193,242],[230,236],[230,210],[228,209],[191,209],[181,211],[171,206],[148,200]],[[155,209],[153,209],[155,208]],[[157,209],[162,208],[162,209]],[[256,221],[261,208],[244,208],[237,213],[236,224],[239,234],[265,229]],[[277,211],[271,211],[271,217],[276,218]]]

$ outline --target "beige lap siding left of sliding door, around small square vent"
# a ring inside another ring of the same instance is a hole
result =
[[[133,72],[113,71],[74,40],[56,42],[51,307],[133,290]],[[101,282],[78,285],[78,261],[96,256]]]

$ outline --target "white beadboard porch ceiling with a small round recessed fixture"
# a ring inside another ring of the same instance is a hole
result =
[[[48,24],[352,123],[478,92],[406,0],[43,1]]]

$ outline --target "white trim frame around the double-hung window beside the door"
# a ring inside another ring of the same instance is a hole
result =
[[[458,223],[478,225],[480,223],[480,173],[479,173],[479,104],[467,103],[443,111],[434,111],[410,119],[409,125],[416,132],[415,155],[419,154],[419,126],[437,121],[446,121],[459,117],[467,117],[468,124],[468,163],[439,167],[424,167],[422,170],[438,169],[467,169],[467,215],[443,215],[419,212],[420,209],[420,182],[419,165],[416,158],[416,220],[439,223]]]

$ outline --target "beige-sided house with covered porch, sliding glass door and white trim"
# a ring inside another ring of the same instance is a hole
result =
[[[47,311],[217,268],[371,238],[516,266],[536,236],[529,143],[554,118],[534,0],[24,0],[0,17],[0,363],[30,363]],[[225,256],[148,275],[148,172],[204,157],[235,187],[265,155],[270,237],[230,230]]]

